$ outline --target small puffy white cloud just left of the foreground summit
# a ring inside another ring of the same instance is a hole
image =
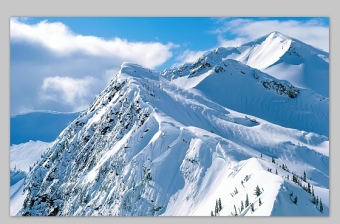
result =
[[[91,86],[96,84],[93,77],[75,79],[71,77],[48,77],[41,86],[40,98],[72,106],[75,110],[85,109],[88,102],[84,99],[93,96]]]

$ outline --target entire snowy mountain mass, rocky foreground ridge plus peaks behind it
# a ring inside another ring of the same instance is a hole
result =
[[[281,37],[307,46],[274,32],[160,73],[123,63],[28,172],[17,215],[328,216],[329,99],[266,72],[290,62]]]

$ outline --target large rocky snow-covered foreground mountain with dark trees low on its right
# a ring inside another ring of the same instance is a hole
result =
[[[208,67],[201,67],[202,73]],[[280,206],[275,200],[285,183],[322,189],[324,213],[313,214],[328,215],[327,137],[227,109],[162,77],[124,63],[28,173],[27,197],[18,215],[210,216],[217,197],[223,203],[218,214],[235,215],[233,205],[247,194],[249,202],[255,205],[261,198],[263,205],[254,211],[244,206],[240,215],[271,215]],[[259,75],[258,81],[269,78]],[[299,97],[288,83],[284,88],[267,84],[269,92]],[[307,179],[302,180],[304,172]],[[261,193],[255,197],[257,185]],[[296,205],[290,198],[282,214],[293,214]],[[300,215],[310,214],[308,208]]]

